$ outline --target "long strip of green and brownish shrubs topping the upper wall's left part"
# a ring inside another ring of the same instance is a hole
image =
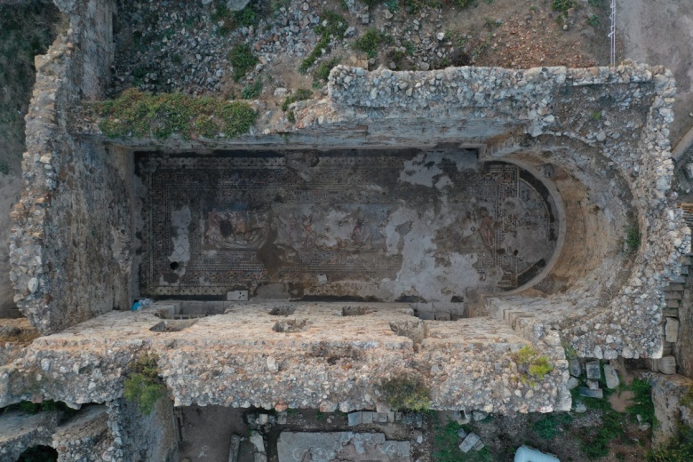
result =
[[[95,108],[103,117],[99,128],[109,138],[166,139],[173,133],[183,139],[212,138],[219,132],[234,138],[247,132],[257,117],[243,102],[178,92],[152,95],[136,89],[126,90],[116,100],[101,101]]]

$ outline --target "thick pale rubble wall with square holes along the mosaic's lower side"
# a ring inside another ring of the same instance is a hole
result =
[[[532,339],[554,370],[530,379],[514,359],[530,342],[488,317],[424,322],[406,304],[349,304],[361,315],[343,315],[341,304],[267,302],[191,322],[163,321],[155,314],[164,307],[113,312],[37,339],[0,368],[0,405],[31,396],[115,401],[128,365],[148,351],[177,406],[375,409],[382,381],[403,374],[424,378],[437,410],[570,409],[555,332]]]

